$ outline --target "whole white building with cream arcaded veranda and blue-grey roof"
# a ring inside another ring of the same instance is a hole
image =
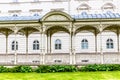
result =
[[[119,4],[0,1],[0,65],[119,64]]]

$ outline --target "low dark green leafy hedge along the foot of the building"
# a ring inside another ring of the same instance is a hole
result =
[[[40,65],[37,68],[30,66],[15,66],[7,68],[0,66],[0,73],[11,72],[11,73],[53,73],[53,72],[77,72],[77,71],[120,71],[120,64],[91,64],[82,67],[73,65]]]

